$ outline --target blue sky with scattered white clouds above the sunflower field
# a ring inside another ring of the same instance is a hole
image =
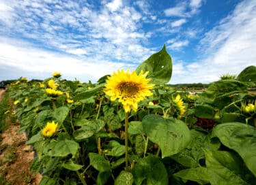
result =
[[[166,46],[169,84],[256,65],[256,0],[0,0],[0,81],[97,82]]]

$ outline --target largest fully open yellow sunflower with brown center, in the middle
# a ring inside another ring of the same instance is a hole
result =
[[[125,112],[130,110],[137,111],[139,101],[152,95],[151,89],[154,84],[148,84],[150,78],[146,79],[149,72],[139,73],[136,71],[130,73],[129,71],[117,70],[113,75],[108,76],[104,92],[111,97],[111,101],[119,99],[122,103]]]

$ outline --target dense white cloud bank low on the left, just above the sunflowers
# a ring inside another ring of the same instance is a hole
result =
[[[1,73],[14,70],[27,71],[23,76],[33,73],[33,78],[38,79],[48,78],[50,76],[47,75],[51,75],[54,71],[60,71],[64,78],[70,80],[78,78],[84,82],[88,80],[96,82],[103,75],[111,74],[117,69],[134,69],[133,65],[113,63],[102,60],[97,56],[94,58],[77,58],[67,54],[56,54],[55,52],[34,48],[24,41],[8,40],[12,44],[6,43],[5,39],[0,38],[0,71],[5,70]],[[40,77],[37,73],[40,74]],[[42,73],[44,73],[44,76],[42,76]]]

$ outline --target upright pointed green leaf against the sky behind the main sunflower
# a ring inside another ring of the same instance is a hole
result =
[[[173,64],[171,61],[171,56],[165,50],[165,45],[160,50],[152,54],[150,58],[147,58],[146,61],[141,63],[136,69],[137,73],[140,73],[142,70],[149,71],[148,78],[152,79],[153,84],[166,84],[171,79],[171,73],[173,69]]]

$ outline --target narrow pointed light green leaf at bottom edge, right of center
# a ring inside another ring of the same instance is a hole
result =
[[[184,182],[186,182],[187,180],[191,180],[194,182],[198,182],[199,184],[208,184],[213,174],[205,167],[197,167],[183,169],[181,171],[178,171],[177,173],[174,173],[173,175],[182,178]]]

